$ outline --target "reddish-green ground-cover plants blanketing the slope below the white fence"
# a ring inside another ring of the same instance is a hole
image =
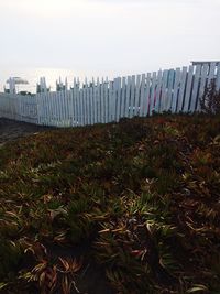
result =
[[[102,290],[89,287],[96,269]],[[122,120],[1,148],[0,293],[220,293],[220,118]]]

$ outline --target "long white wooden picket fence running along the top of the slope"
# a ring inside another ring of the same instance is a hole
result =
[[[74,79],[70,90],[35,96],[0,94],[0,117],[42,126],[77,127],[152,116],[153,111],[200,111],[210,80],[220,89],[220,62],[118,77],[113,81]]]

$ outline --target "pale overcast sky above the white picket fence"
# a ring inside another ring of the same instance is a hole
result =
[[[219,20],[220,0],[0,0],[0,89],[220,61]]]

